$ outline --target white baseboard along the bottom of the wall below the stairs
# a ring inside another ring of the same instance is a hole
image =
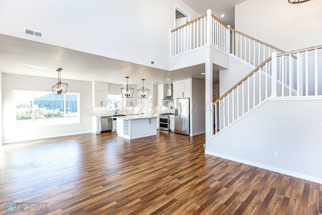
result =
[[[209,152],[207,150],[205,151],[205,154],[216,156],[216,157],[219,157],[219,158],[224,158],[224,159],[227,159],[227,160],[230,160],[230,161],[235,161],[235,162],[247,164],[247,165],[254,166],[254,167],[259,167],[259,168],[270,170],[270,171],[273,171],[273,172],[282,173],[282,174],[293,176],[293,177],[296,177],[296,178],[301,178],[301,179],[304,179],[304,180],[313,181],[313,182],[316,182],[316,183],[319,183],[319,184],[322,183],[321,178],[316,178],[316,177],[312,177],[312,176],[309,176],[309,175],[304,175],[304,174],[297,173],[297,172],[292,172],[292,171],[279,169],[279,168],[276,168],[276,167],[267,166],[267,165],[264,165],[264,164],[244,160],[244,159],[239,159],[239,158],[234,158],[234,157],[230,157],[230,156],[226,156],[226,155],[222,155],[222,154],[217,154],[217,153]]]

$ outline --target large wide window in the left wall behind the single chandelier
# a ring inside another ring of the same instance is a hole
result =
[[[14,91],[17,123],[79,123],[79,93]]]

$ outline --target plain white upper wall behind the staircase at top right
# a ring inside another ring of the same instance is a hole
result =
[[[247,0],[235,6],[235,29],[284,51],[322,44],[322,4]]]

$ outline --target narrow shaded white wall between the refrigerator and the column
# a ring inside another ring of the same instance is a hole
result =
[[[191,120],[190,133],[197,135],[205,132],[205,80],[191,79]]]

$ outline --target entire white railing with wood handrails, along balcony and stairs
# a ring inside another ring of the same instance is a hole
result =
[[[226,26],[210,10],[171,31],[171,56],[206,45],[255,67],[212,104],[213,135],[268,98],[322,95],[322,79],[317,76],[322,46],[284,52]]]

